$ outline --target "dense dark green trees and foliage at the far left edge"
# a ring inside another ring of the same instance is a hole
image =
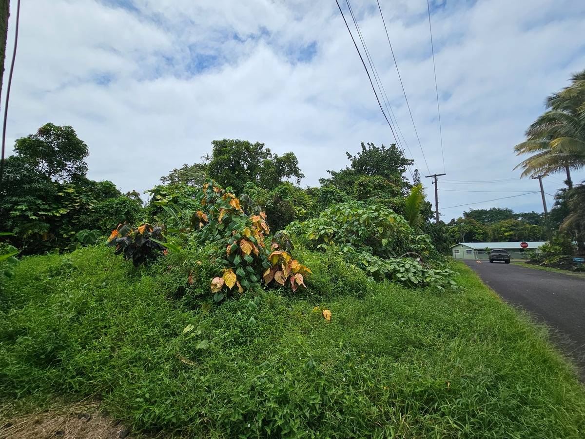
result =
[[[16,140],[0,187],[0,229],[10,231],[24,254],[77,245],[77,232],[109,232],[119,221],[142,217],[136,198],[110,181],[85,177],[87,145],[70,126],[43,125]]]

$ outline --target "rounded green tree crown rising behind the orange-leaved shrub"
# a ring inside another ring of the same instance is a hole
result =
[[[242,193],[246,183],[272,190],[283,180],[293,179],[297,184],[304,177],[298,167],[297,156],[287,152],[273,154],[264,143],[247,140],[214,140],[209,177],[223,187],[231,186],[236,194]]]

